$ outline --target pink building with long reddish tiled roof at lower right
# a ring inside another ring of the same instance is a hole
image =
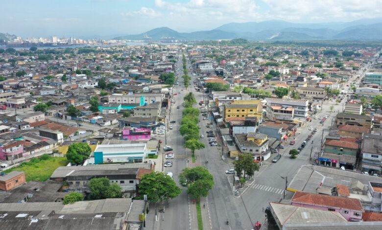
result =
[[[347,197],[297,191],[291,202],[293,206],[338,212],[347,221],[362,221],[362,212],[364,212],[358,199]]]

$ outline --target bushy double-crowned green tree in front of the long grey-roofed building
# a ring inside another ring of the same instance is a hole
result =
[[[110,183],[107,177],[92,178],[89,189],[90,198],[93,200],[122,197],[122,188],[117,183]]]

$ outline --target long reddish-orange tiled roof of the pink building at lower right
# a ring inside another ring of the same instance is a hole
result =
[[[322,207],[337,207],[337,208],[345,208],[349,210],[363,211],[361,202],[358,199],[347,198],[347,197],[328,196],[328,195],[297,191],[294,194],[291,201],[295,203],[307,204],[307,205],[316,205],[316,206],[322,206]]]

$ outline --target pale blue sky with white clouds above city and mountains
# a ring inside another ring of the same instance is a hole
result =
[[[382,0],[1,0],[0,32],[26,37],[113,37],[167,26],[350,22],[381,17]]]

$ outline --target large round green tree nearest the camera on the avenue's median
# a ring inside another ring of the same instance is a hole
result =
[[[184,168],[179,174],[179,184],[188,187],[187,193],[194,199],[206,197],[214,187],[214,176],[204,167]]]

